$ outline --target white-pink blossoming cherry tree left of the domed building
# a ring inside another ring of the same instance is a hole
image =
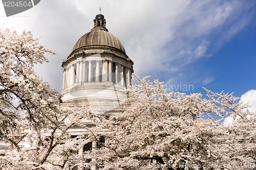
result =
[[[62,108],[60,94],[33,70],[55,52],[30,31],[0,29],[0,169],[69,169],[77,163],[77,142],[68,130],[90,113]],[[75,158],[74,158],[75,157]]]

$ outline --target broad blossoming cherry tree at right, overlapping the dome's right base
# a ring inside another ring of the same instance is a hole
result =
[[[167,93],[158,80],[136,79],[139,85],[127,90],[132,106],[99,115],[100,124],[87,134],[98,143],[84,153],[92,164],[103,169],[255,168],[255,113],[239,98],[206,89],[209,100],[200,93]],[[225,127],[221,121],[229,115],[241,118]]]

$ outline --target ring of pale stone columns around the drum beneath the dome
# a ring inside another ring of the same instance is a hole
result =
[[[131,67],[112,60],[78,60],[63,70],[62,89],[83,82],[113,82],[122,86],[131,85]]]

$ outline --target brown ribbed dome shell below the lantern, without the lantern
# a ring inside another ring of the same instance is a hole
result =
[[[93,30],[84,34],[75,44],[73,51],[84,46],[102,45],[118,48],[125,53],[122,43],[113,34],[104,30]]]

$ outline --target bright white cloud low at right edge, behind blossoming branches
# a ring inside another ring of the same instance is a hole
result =
[[[243,102],[243,104],[249,104],[251,107],[248,108],[251,112],[256,112],[256,90],[249,90],[246,93],[244,93],[239,102]],[[237,117],[238,118],[238,117]],[[237,119],[236,118],[236,119]],[[223,124],[225,126],[230,125],[233,122],[233,118],[230,116],[226,117]]]

